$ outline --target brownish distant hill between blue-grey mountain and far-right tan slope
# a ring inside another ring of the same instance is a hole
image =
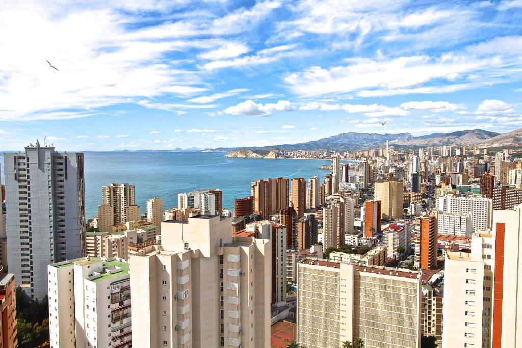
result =
[[[394,145],[404,146],[440,146],[440,145],[467,145],[483,143],[485,140],[498,136],[499,133],[482,129],[460,130],[453,133],[433,133],[397,139],[390,141]]]

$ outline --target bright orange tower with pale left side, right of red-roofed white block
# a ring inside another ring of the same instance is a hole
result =
[[[415,217],[415,267],[434,269],[437,267],[437,222],[432,215]]]

